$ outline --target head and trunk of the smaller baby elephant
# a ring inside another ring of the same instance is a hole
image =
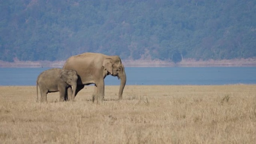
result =
[[[75,97],[76,94],[76,86],[77,86],[77,72],[75,70],[62,70],[60,74],[60,79],[64,81],[68,86],[72,88],[72,98]]]

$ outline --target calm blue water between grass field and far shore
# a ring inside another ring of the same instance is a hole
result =
[[[0,86],[34,86],[49,68],[0,68]],[[256,67],[127,67],[127,85],[256,84]],[[105,85],[119,85],[107,76]]]

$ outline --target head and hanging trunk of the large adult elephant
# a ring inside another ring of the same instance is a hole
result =
[[[124,65],[121,62],[119,56],[109,56],[103,61],[104,70],[111,74],[112,76],[117,76],[118,79],[121,79],[120,88],[119,88],[119,99],[123,98],[123,91],[126,83],[126,74],[124,70]]]

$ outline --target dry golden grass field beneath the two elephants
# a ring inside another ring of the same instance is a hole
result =
[[[36,102],[35,86],[0,87],[1,144],[254,144],[256,85],[92,86],[74,102]]]

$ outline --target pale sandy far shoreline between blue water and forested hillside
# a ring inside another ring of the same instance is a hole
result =
[[[65,61],[0,61],[0,68],[39,68],[39,67],[63,67]],[[195,60],[183,59],[174,63],[161,60],[123,60],[125,67],[256,67],[256,58],[248,59],[222,59],[222,60]]]

